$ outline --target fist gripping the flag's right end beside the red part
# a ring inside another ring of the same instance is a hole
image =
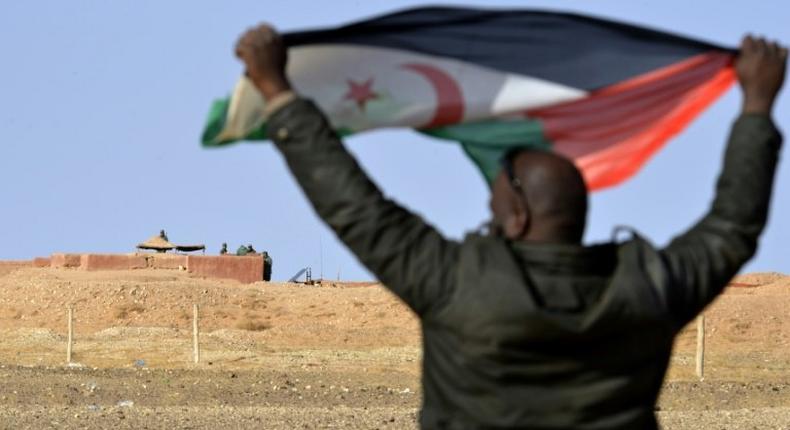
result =
[[[743,113],[771,113],[784,82],[786,64],[786,47],[762,38],[744,37],[735,63],[743,88]]]

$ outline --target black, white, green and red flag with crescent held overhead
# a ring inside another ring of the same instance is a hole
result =
[[[457,141],[489,182],[531,146],[573,159],[591,190],[616,185],[735,80],[731,49],[572,13],[416,8],[283,39],[294,89],[339,134]],[[242,77],[203,145],[265,139],[264,105]]]

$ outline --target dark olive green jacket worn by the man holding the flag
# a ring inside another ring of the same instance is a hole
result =
[[[710,211],[669,246],[447,240],[387,199],[321,112],[269,134],[315,210],[420,317],[423,428],[653,429],[672,341],[754,254],[781,136],[734,124]]]

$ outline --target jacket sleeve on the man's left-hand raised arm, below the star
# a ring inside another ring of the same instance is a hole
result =
[[[385,198],[312,102],[289,102],[268,130],[318,215],[384,285],[420,315],[445,297],[459,244]]]

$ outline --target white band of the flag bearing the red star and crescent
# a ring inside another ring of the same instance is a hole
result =
[[[419,128],[441,115],[477,121],[587,95],[542,79],[398,49],[305,45],[291,48],[288,55],[287,73],[296,91],[313,99],[334,127],[355,132]],[[414,65],[418,67],[410,67]],[[356,98],[352,85],[359,91]],[[251,91],[242,78],[221,139],[243,138],[262,123],[264,101]]]

